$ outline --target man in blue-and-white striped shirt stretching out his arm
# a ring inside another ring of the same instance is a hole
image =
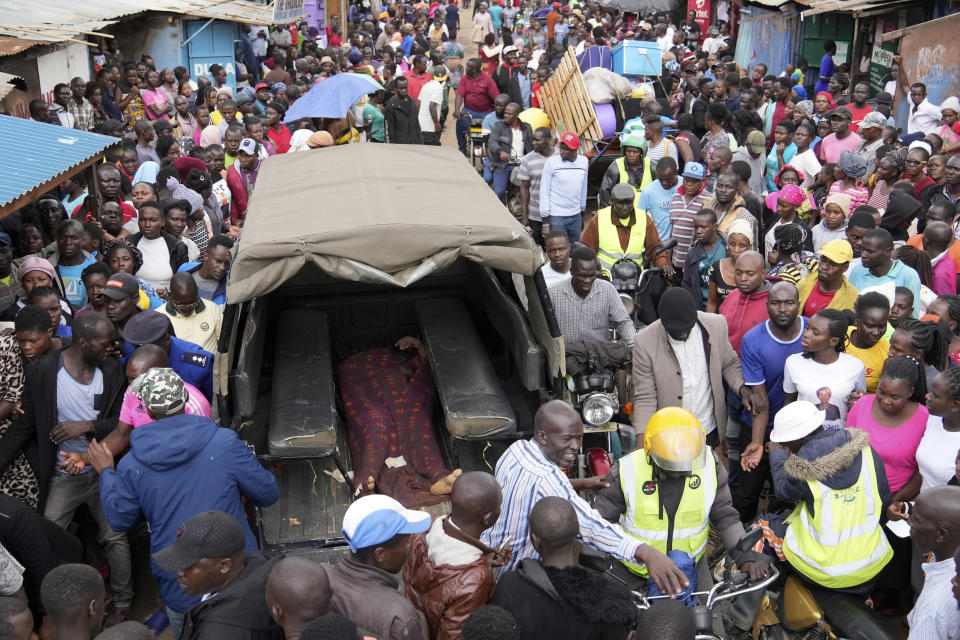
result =
[[[518,440],[497,461],[497,482],[503,489],[500,519],[482,536],[491,547],[510,550],[506,565],[494,569],[499,578],[525,558],[537,558],[530,540],[528,518],[541,498],[556,496],[573,505],[580,521],[580,541],[618,560],[645,564],[663,593],[679,593],[689,585],[673,560],[629,536],[620,525],[608,522],[577,494],[578,489],[608,486],[599,478],[571,481],[564,469],[576,464],[583,442],[583,423],[573,408],[552,400],[537,411],[532,440]],[[576,482],[574,486],[572,482]]]

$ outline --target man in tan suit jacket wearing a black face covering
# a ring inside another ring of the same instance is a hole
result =
[[[718,446],[727,427],[724,382],[738,392],[745,407],[757,410],[753,394],[743,384],[740,358],[727,339],[727,321],[697,311],[693,297],[679,287],[667,289],[660,298],[659,315],[633,343],[637,435],[658,409],[679,406],[700,420],[707,444]]]

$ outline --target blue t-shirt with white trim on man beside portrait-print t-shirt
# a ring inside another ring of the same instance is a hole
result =
[[[800,339],[807,326],[807,319],[800,316],[800,330],[790,342],[782,342],[770,331],[770,320],[757,325],[743,336],[740,343],[740,365],[743,368],[743,383],[764,385],[767,388],[767,405],[770,407],[770,419],[767,433],[773,428],[773,417],[783,408],[783,368],[787,357],[802,353]],[[744,411],[740,420],[752,424],[749,411]]]

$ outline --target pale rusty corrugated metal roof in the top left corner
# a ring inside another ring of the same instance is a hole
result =
[[[46,42],[62,42],[77,34],[99,31],[120,18],[148,11],[249,24],[273,21],[272,4],[249,0],[44,0],[36,4],[8,0],[0,2],[0,6],[0,34]]]

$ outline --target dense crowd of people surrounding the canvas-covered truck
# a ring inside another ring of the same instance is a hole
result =
[[[870,100],[832,42],[819,67],[743,68],[722,16],[703,33],[692,12],[594,2],[468,10],[355,4],[345,40],[336,19],[248,27],[236,86],[219,65],[194,79],[108,51],[93,80],[30,104],[33,120],[122,142],[95,185],[77,174],[0,220],[0,637],[150,637],[129,620],[130,536],[148,532],[183,639],[689,638],[676,602],[633,630],[629,593],[580,567],[578,544],[688,601],[710,580],[708,530],[731,549],[759,519],[764,540],[737,558],[751,577],[788,564],[910,611],[910,638],[960,638],[957,98],[932,105],[895,58]],[[462,23],[478,50],[461,63]],[[526,116],[568,48],[582,70],[610,69],[624,40],[658,43],[662,75],[641,83],[591,216],[595,158]],[[345,73],[383,89],[342,118],[284,122]],[[483,120],[494,192],[519,186],[568,347],[625,346],[638,448],[605,478],[571,480],[583,425],[551,401],[495,475],[451,474],[449,515],[365,495],[343,519],[349,558],[267,554],[245,504],[276,502],[277,481],[211,420],[231,249],[259,170],[342,144],[438,145],[451,112],[464,152]],[[609,282],[621,259],[669,285],[640,323]],[[74,536],[82,505],[93,554]],[[882,526],[897,520],[909,537]]]

